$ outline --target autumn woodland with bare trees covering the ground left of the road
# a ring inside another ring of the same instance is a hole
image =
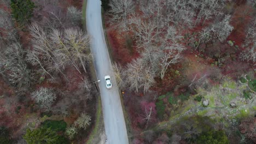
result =
[[[0,143],[85,143],[95,122],[83,1],[0,1]]]

